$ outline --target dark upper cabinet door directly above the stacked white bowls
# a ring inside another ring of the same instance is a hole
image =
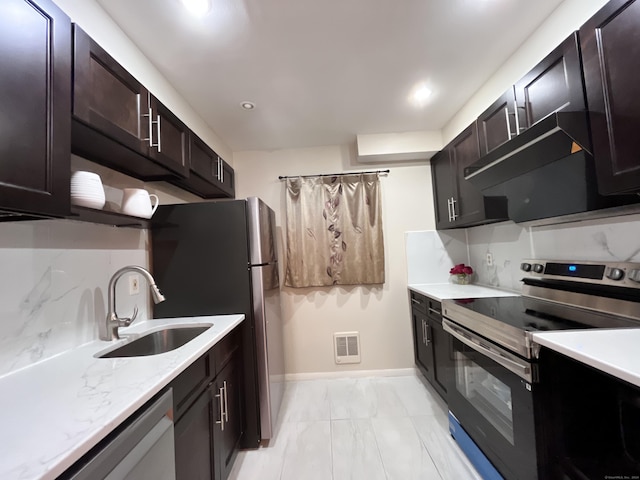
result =
[[[146,155],[147,89],[80,27],[74,25],[73,31],[73,115],[103,135]]]

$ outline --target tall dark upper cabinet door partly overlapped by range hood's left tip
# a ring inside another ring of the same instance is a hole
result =
[[[456,225],[469,225],[485,218],[484,196],[473,184],[464,179],[464,169],[480,158],[478,129],[472,123],[448,147],[451,163],[455,166],[455,199],[453,204]]]

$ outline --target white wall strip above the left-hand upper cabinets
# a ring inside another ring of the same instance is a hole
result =
[[[91,38],[175,113],[211,148],[233,165],[233,152],[211,130],[111,17],[94,0],[54,0]],[[141,19],[143,21],[143,19]]]

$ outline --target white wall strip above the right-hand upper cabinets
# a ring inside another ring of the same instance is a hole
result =
[[[608,0],[565,0],[518,48],[442,129],[444,143],[453,140],[500,95],[546,57]]]

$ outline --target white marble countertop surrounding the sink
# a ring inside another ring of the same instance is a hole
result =
[[[221,315],[136,322],[120,330],[123,337],[169,325],[213,326],[159,355],[96,358],[127,339],[95,341],[1,377],[0,478],[55,479],[243,319]]]

